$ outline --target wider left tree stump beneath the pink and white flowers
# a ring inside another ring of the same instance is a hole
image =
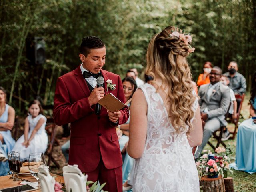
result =
[[[226,192],[224,180],[221,175],[217,178],[208,178],[207,176],[202,176],[201,186],[203,192]]]

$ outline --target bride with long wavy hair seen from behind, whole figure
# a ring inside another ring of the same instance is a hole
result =
[[[169,26],[148,46],[146,74],[134,93],[128,154],[136,159],[134,192],[199,192],[191,147],[202,142],[198,98],[186,56],[192,38]]]

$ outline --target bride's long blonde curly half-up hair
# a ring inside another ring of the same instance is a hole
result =
[[[174,26],[168,26],[151,39],[146,55],[146,74],[154,78],[152,84],[156,85],[157,91],[160,88],[168,90],[166,100],[170,106],[168,115],[172,126],[177,133],[187,131],[188,134],[192,128],[192,106],[196,100],[186,60],[191,46],[179,38],[171,37],[170,34],[175,30]],[[162,80],[160,87],[156,84],[156,77]]]

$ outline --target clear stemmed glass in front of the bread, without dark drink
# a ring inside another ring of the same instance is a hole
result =
[[[37,176],[39,167],[41,165],[46,166],[46,161],[44,159],[44,154],[43,153],[31,153],[28,158],[28,169],[30,171],[30,174],[36,178],[38,181],[38,189],[41,191],[41,186],[40,186],[40,181]]]

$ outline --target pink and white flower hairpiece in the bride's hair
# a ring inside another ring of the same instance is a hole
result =
[[[188,52],[192,53],[195,51],[195,48],[190,45],[192,43],[192,37],[190,36],[191,33],[184,33],[185,30],[180,30],[180,29],[176,29],[175,27],[175,31],[171,30],[172,33],[170,34],[170,37],[174,37],[182,40],[184,42],[185,45],[189,46]]]

